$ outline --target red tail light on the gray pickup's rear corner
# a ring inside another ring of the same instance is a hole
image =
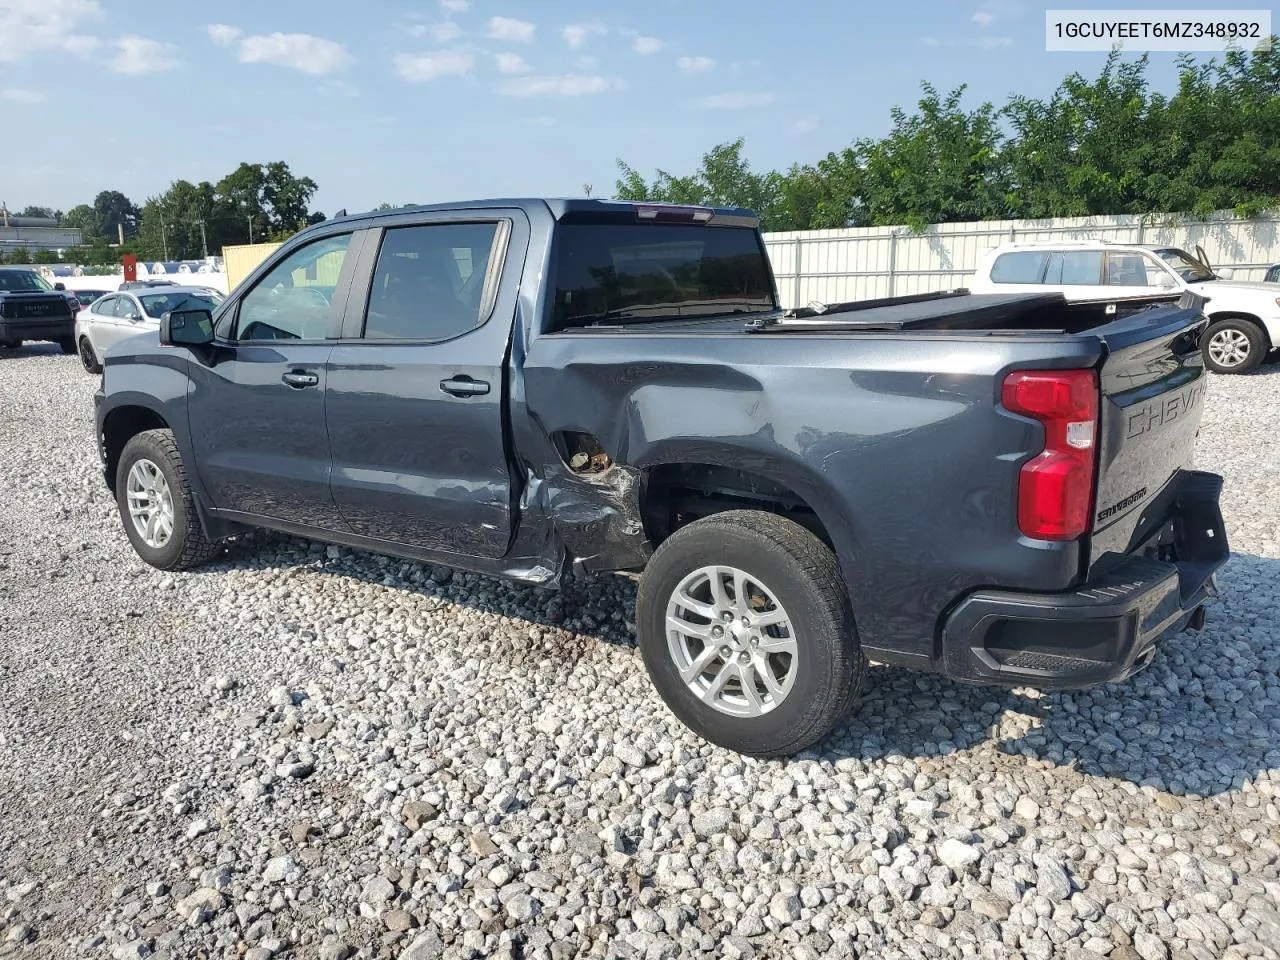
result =
[[[1018,529],[1037,540],[1074,540],[1089,529],[1093,503],[1097,374],[1019,370],[1005,378],[1001,402],[1044,426],[1044,449],[1018,476]]]

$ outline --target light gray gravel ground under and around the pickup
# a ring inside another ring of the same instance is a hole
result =
[[[626,581],[145,567],[93,385],[0,351],[0,956],[1280,956],[1280,366],[1211,383],[1204,631],[1087,692],[873,669],[790,762],[666,712]]]

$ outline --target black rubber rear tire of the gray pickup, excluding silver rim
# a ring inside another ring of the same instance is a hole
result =
[[[705,566],[733,566],[777,596],[796,632],[799,671],[782,704],[759,717],[731,717],[704,704],[685,685],[667,650],[667,604],[672,591],[692,571]],[[749,527],[713,526],[681,544],[681,549],[655,554],[645,570],[637,599],[636,627],[640,653],[663,700],[685,726],[713,744],[745,754],[774,754],[809,728],[822,704],[846,696],[833,689],[832,654],[850,644],[858,657],[852,618],[833,623],[827,604],[786,548]]]

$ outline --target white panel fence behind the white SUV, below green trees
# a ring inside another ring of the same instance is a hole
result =
[[[913,233],[906,227],[767,233],[783,306],[838,303],[965,287],[978,260],[1006,242],[1106,239],[1112,243],[1196,246],[1235,279],[1261,280],[1280,262],[1280,219],[1242,220],[1220,211],[1204,220],[1176,216],[1082,216],[1057,220],[948,223]]]

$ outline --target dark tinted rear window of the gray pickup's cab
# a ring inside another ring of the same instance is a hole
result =
[[[563,224],[552,329],[777,308],[754,229],[685,224]]]

